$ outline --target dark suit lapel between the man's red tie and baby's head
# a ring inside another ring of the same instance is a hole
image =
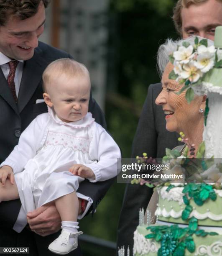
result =
[[[33,57],[25,61],[20,89],[18,93],[19,113],[26,106],[41,81],[47,62],[35,51]]]

